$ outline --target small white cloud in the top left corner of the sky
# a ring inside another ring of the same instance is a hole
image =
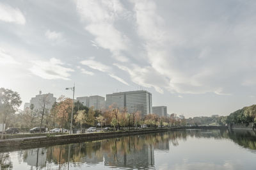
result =
[[[0,3],[0,20],[21,25],[26,23],[24,15],[18,8],[13,8],[12,6],[3,3]]]

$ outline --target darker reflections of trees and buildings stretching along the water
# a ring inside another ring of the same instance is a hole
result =
[[[27,169],[74,169],[100,164],[112,168],[154,169],[155,152],[171,153],[170,147],[178,147],[181,141],[189,143],[188,139],[207,138],[232,139],[244,148],[256,150],[253,131],[180,130],[10,152],[17,155],[18,161],[12,160],[10,153],[0,153],[0,164],[1,169],[19,169],[13,166],[15,161],[15,165],[26,163]]]

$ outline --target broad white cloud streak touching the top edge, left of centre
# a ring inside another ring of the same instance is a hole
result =
[[[129,38],[115,27],[115,21],[127,15],[120,1],[77,1],[77,12],[86,22],[86,31],[95,36],[97,47],[110,50],[118,61],[129,61],[122,54]]]

